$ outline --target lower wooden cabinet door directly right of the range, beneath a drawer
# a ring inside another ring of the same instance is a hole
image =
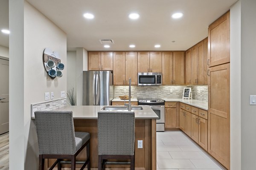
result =
[[[177,127],[176,122],[176,108],[165,108],[165,128],[175,128]]]

